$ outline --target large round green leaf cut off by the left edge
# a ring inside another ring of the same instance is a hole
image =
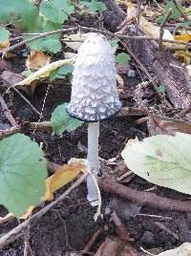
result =
[[[36,142],[21,134],[0,141],[0,203],[16,217],[39,203],[46,177],[46,160]]]

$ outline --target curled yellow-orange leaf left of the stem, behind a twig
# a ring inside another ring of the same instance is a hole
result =
[[[85,171],[86,165],[80,162],[73,162],[61,166],[52,176],[46,180],[46,193],[40,199],[40,202],[52,201],[53,192],[61,188],[70,181],[73,181],[74,178],[80,173]],[[27,219],[31,214],[34,206],[31,205],[26,213],[22,215],[19,219]]]

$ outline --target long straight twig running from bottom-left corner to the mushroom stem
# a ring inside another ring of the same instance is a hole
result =
[[[4,247],[5,245],[9,245],[14,240],[21,237],[23,234],[22,232],[25,231],[29,224],[34,224],[36,220],[40,217],[45,215],[48,211],[50,211],[57,203],[60,203],[64,200],[77,186],[79,186],[83,181],[86,180],[88,173],[83,174],[77,181],[75,181],[61,196],[59,196],[55,201],[49,203],[47,206],[39,210],[38,212],[34,213],[32,217],[22,224],[17,225],[10,232],[0,238],[0,248]]]

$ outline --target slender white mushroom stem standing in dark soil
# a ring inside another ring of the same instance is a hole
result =
[[[98,137],[99,137],[99,121],[89,122],[88,125],[88,166],[92,174],[97,178],[97,173],[99,170],[99,161],[98,161]],[[87,178],[87,187],[88,187],[88,201],[92,206],[96,206],[98,203],[98,195],[96,190],[96,184],[93,180],[92,175],[89,175]]]

